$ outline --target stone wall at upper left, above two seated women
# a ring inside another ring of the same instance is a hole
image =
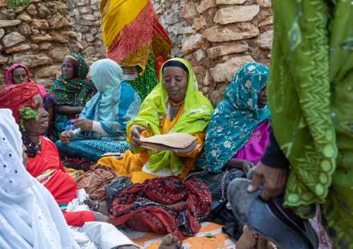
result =
[[[32,0],[27,8],[14,11],[7,0],[0,0],[0,89],[15,63],[26,65],[31,79],[50,89],[64,56],[81,53],[65,2]]]

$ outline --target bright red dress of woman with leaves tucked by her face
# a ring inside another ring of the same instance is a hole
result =
[[[58,205],[68,204],[76,198],[76,191],[79,187],[76,181],[66,173],[55,144],[42,136],[40,136],[40,141],[42,151],[34,158],[28,157],[26,169],[33,178],[54,170],[48,177],[40,180],[40,183],[50,191]],[[85,222],[95,220],[91,211],[63,212],[63,214],[67,225],[81,226]]]

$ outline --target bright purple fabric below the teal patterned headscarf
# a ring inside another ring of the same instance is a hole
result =
[[[270,140],[271,125],[265,120],[260,123],[247,143],[240,148],[238,153],[233,156],[236,159],[243,159],[253,162],[255,165],[260,161],[263,153],[265,153],[268,141]]]

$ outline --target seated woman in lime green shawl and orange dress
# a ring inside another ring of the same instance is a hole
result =
[[[135,154],[126,151],[120,160],[104,157],[97,162],[109,166],[120,176],[127,175],[133,183],[172,175],[185,178],[189,171],[196,169],[212,116],[213,107],[197,89],[189,62],[180,58],[168,60],[160,78],[160,83],[143,101],[138,117],[126,126],[127,142],[134,146]],[[140,135],[151,137],[170,132],[193,135],[202,146],[191,153],[140,148]]]

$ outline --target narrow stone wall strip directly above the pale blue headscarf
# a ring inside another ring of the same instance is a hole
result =
[[[67,0],[66,6],[85,57],[106,58],[106,46],[101,40],[99,0]]]

